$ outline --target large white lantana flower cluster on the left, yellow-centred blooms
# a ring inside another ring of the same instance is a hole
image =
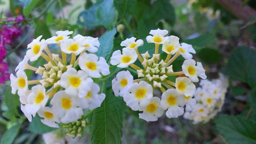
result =
[[[92,54],[98,51],[98,38],[81,35],[70,38],[71,34],[57,31],[56,36],[47,40],[41,39],[42,36],[34,39],[28,44],[24,60],[16,67],[16,76],[10,76],[12,93],[18,91],[21,109],[30,122],[37,113],[45,125],[59,127],[57,123],[75,122],[83,115],[83,109],[95,109],[105,99],[92,79],[110,74],[105,59]],[[48,44],[57,44],[61,57],[52,54]],[[29,64],[39,57],[46,63],[38,67]],[[25,69],[40,75],[39,79],[28,80]]]

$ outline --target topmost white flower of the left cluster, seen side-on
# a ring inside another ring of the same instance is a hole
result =
[[[56,32],[57,36],[53,36],[51,38],[48,38],[46,40],[46,42],[48,44],[51,44],[51,43],[61,43],[63,40],[68,39],[69,38],[68,35],[71,35],[71,34],[73,34],[73,31],[68,31],[68,30],[66,30],[66,31],[57,31]]]

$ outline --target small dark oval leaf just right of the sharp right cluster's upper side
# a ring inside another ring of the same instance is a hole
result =
[[[198,53],[198,56],[203,62],[208,64],[217,63],[221,59],[220,53],[215,49],[207,49],[207,48],[202,49]]]

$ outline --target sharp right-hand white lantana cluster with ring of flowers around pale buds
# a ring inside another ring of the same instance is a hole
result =
[[[124,48],[122,51],[115,51],[110,62],[121,68],[130,66],[136,71],[138,79],[128,70],[120,71],[112,81],[112,88],[114,94],[123,97],[132,110],[143,111],[139,113],[139,117],[147,122],[157,121],[165,110],[168,118],[182,115],[184,107],[186,111],[194,110],[194,82],[199,81],[198,77],[206,79],[202,64],[192,59],[191,53],[195,54],[196,51],[190,44],[180,44],[177,36],[165,36],[168,34],[167,30],[151,30],[150,34],[146,41],[155,44],[152,57],[148,51],[140,54],[138,49],[143,45],[143,40],[132,37],[121,42],[120,45]],[[167,54],[166,58],[160,57],[159,49]],[[185,61],[181,71],[174,71],[173,63],[179,56]],[[135,64],[137,59],[141,65]],[[154,95],[155,89],[161,90],[161,97]]]

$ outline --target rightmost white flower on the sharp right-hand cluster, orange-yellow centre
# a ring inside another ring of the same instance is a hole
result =
[[[192,82],[198,82],[198,77],[206,79],[205,70],[201,62],[197,62],[193,59],[185,60],[182,64],[182,71]]]

